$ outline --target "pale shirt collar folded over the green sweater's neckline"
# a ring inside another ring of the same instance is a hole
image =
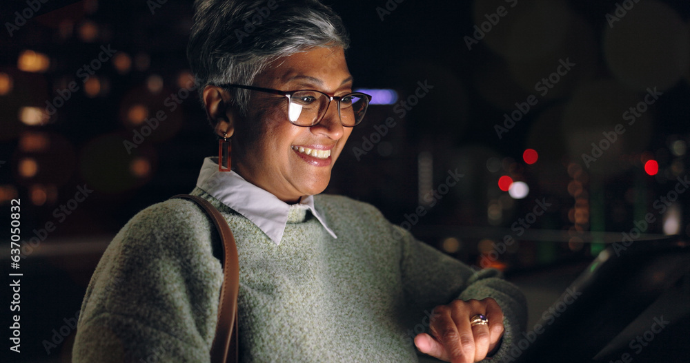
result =
[[[279,200],[269,191],[249,183],[234,171],[220,172],[217,157],[204,158],[204,164],[201,165],[201,172],[197,179],[197,187],[251,220],[276,245],[280,244],[288,222],[288,211],[290,211],[288,203]],[[299,204],[306,206],[321,222],[328,234],[337,238],[314,207],[314,196],[301,198]]]

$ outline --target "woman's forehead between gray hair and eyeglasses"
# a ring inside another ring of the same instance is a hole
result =
[[[341,47],[319,47],[276,59],[257,79],[276,88],[286,85],[315,85],[335,90],[342,85],[351,84],[352,76]]]

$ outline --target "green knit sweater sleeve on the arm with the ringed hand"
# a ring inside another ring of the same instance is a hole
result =
[[[404,229],[393,226],[393,235],[402,236],[402,280],[406,299],[417,324],[428,328],[428,315],[439,304],[453,299],[493,298],[504,314],[504,335],[492,362],[509,359],[509,349],[526,328],[527,307],[524,295],[515,285],[502,280],[500,271],[475,271],[413,238]],[[426,317],[426,319],[425,319]],[[415,329],[416,331],[416,329]]]

